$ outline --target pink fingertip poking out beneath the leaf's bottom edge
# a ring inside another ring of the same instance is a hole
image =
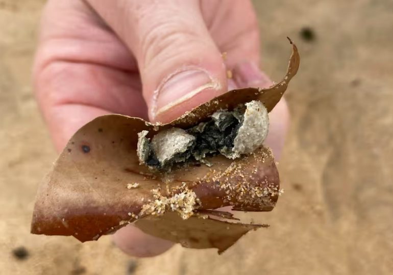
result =
[[[113,241],[122,252],[134,257],[154,257],[174,245],[171,241],[145,234],[133,225],[117,230]]]

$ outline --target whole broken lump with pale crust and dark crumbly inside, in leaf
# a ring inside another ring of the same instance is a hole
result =
[[[169,170],[174,163],[198,161],[209,165],[207,156],[223,154],[235,159],[250,154],[264,141],[268,131],[268,114],[260,101],[241,104],[233,111],[220,110],[206,122],[188,128],[169,128],[146,138],[138,133],[140,163],[152,169]]]

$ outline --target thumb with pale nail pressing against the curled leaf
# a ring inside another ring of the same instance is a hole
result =
[[[103,17],[138,62],[151,121],[169,122],[227,91],[225,65],[199,1],[121,3],[115,13],[102,9]]]

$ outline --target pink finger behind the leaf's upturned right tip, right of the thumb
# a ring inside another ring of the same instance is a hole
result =
[[[268,88],[273,81],[261,72],[253,62],[239,64],[233,70],[233,78],[238,88],[259,87]],[[289,111],[285,98],[281,98],[278,104],[269,113],[269,132],[265,144],[273,150],[275,159],[281,156],[284,147],[285,136],[289,127]]]

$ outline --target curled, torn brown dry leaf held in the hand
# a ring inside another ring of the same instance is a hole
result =
[[[231,109],[239,103],[255,99],[264,102],[268,111],[271,111],[299,66],[297,48],[294,44],[292,46],[286,76],[269,89],[230,91],[166,125],[156,126],[139,118],[107,115],[83,126],[71,137],[52,171],[39,187],[32,233],[72,235],[81,241],[96,240],[138,218],[162,214],[157,213],[154,207],[150,212],[141,210],[145,210],[146,206],[150,207],[157,198],[165,201],[185,191],[195,195],[193,210],[233,206],[234,210],[241,211],[271,211],[279,195],[279,175],[269,149],[261,147],[253,154],[236,160],[217,155],[207,159],[213,164],[211,168],[189,166],[174,170],[168,175],[152,172],[139,164],[136,155],[137,133],[142,130],[153,133],[173,126],[189,127],[208,118],[219,108]],[[138,183],[138,187],[127,188],[130,183]],[[165,205],[164,211],[170,211],[169,208],[169,205]],[[231,218],[228,214],[219,212],[210,214]],[[159,220],[165,220],[166,216],[167,214],[159,217]],[[153,223],[147,219],[139,221],[145,221],[138,222],[141,227]],[[171,226],[174,221],[177,219],[169,219],[162,227]],[[228,222],[194,216],[179,225],[195,226],[199,221],[204,223],[198,225],[198,230],[208,233],[201,236],[200,246],[193,245],[196,248],[216,247],[220,251],[233,244],[245,232],[257,227],[228,225]],[[227,227],[230,230],[226,230]],[[176,224],[176,230],[182,229]],[[213,232],[220,232],[222,235],[214,235]],[[191,237],[199,236],[199,233],[189,234]],[[172,237],[165,236],[173,240]],[[215,244],[210,242],[211,246],[208,246],[209,238],[213,238]]]

